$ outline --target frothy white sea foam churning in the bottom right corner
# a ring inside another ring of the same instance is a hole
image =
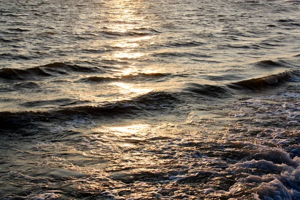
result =
[[[283,155],[286,154],[283,153]],[[297,165],[295,166],[294,163]],[[293,166],[254,159],[232,164],[228,170],[237,177],[237,181],[230,187],[229,192],[237,193],[246,186],[254,191],[255,199],[298,199],[300,197],[299,158],[295,157],[289,164]],[[256,171],[254,172],[256,175],[249,174],[251,170]],[[271,173],[265,174],[265,170]]]

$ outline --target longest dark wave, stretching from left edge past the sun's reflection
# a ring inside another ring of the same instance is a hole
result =
[[[130,116],[147,114],[145,111],[166,110],[180,102],[176,94],[164,91],[151,91],[128,100],[108,102],[101,105],[76,105],[86,103],[75,99],[54,99],[47,101],[30,101],[23,104],[25,107],[44,106],[48,104],[60,105],[56,109],[42,111],[0,112],[0,129],[22,128],[37,124],[40,121],[68,121],[74,116],[89,116],[93,118],[107,118],[116,116]]]

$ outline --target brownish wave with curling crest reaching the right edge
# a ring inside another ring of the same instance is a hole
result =
[[[238,82],[233,82],[228,86],[235,89],[241,87],[246,87],[250,89],[260,89],[267,86],[275,86],[285,81],[290,81],[290,82],[300,81],[300,70],[291,69],[277,74],[271,74],[263,77],[241,80]]]

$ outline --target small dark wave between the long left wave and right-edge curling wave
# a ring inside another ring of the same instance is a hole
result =
[[[226,87],[210,84],[189,83],[189,86],[184,90],[211,97],[225,97],[231,95],[231,92]]]

